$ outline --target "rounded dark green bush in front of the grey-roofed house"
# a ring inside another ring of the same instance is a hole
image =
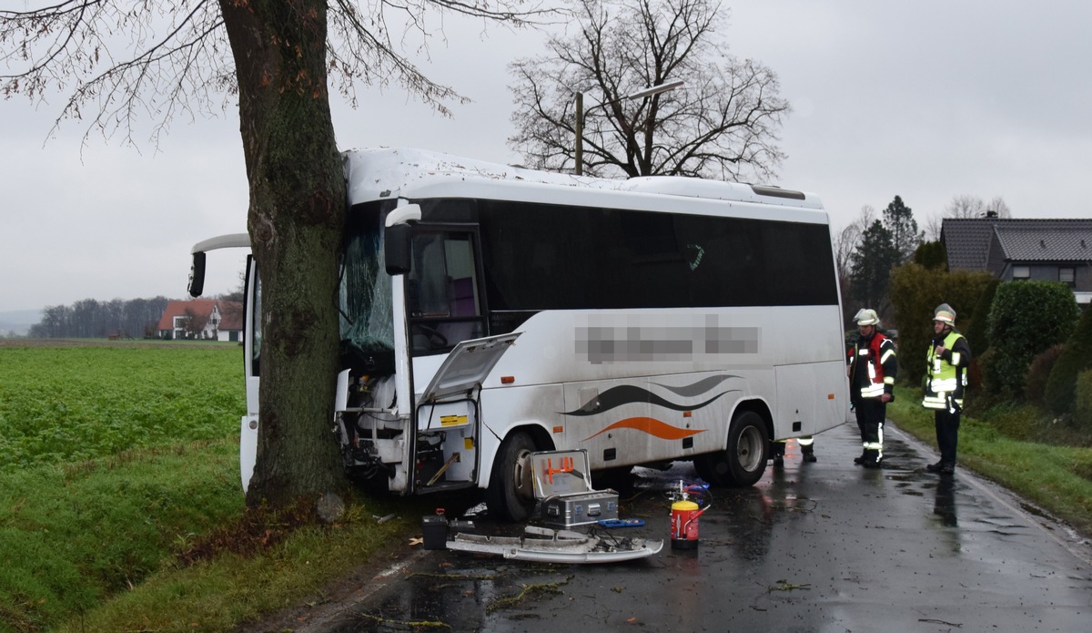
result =
[[[1065,342],[1079,315],[1077,300],[1064,283],[1021,281],[998,285],[989,308],[988,337],[995,357],[984,373],[986,387],[995,395],[1019,398],[1032,359]]]

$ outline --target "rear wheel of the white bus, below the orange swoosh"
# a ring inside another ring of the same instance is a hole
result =
[[[769,444],[762,417],[744,411],[732,421],[727,447],[695,457],[695,468],[702,479],[719,488],[753,485],[765,472]]]

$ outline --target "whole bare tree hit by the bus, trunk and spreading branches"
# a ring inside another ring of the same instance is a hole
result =
[[[215,114],[238,101],[262,270],[261,432],[247,503],[286,505],[345,487],[330,439],[337,367],[336,257],[345,184],[329,85],[395,82],[441,112],[461,97],[397,52],[402,25],[427,40],[426,9],[524,24],[519,0],[54,0],[0,10],[5,96],[70,94],[58,116],[133,142],[133,122]],[[36,5],[36,7],[35,7]],[[397,30],[388,26],[388,14]],[[128,44],[127,44],[128,43]]]

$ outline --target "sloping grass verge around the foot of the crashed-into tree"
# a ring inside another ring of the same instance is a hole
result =
[[[237,450],[229,437],[0,476],[0,631],[230,631],[406,546],[412,521],[377,517],[420,508],[393,500],[349,500],[333,525],[310,508],[256,520]]]

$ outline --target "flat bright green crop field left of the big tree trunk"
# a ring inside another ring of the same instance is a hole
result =
[[[0,472],[238,433],[242,349],[0,347]]]

